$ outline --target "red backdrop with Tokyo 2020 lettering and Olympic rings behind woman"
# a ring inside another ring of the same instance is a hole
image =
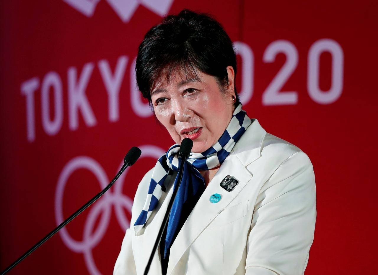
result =
[[[135,91],[146,31],[213,14],[238,52],[244,109],[316,176],[306,274],[375,270],[376,1],[57,0],[1,4],[1,269],[142,158],[11,274],[110,274],[136,186],[172,140]],[[153,147],[156,146],[156,147]]]

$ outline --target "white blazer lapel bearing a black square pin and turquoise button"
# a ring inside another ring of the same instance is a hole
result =
[[[248,181],[251,180],[253,175],[246,169],[246,166],[261,156],[261,146],[265,134],[265,130],[254,119],[253,123],[247,128],[237,144],[235,144],[234,149],[206,187],[172,244],[167,274],[172,273],[184,255],[184,252],[195,239],[234,200]],[[230,192],[220,186],[221,181],[227,175],[231,175],[239,181]],[[211,203],[209,199],[212,194],[216,193],[222,195],[222,198],[218,203]]]

